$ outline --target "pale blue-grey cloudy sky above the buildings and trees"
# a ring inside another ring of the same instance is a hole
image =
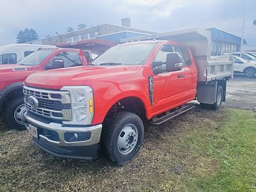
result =
[[[155,32],[186,28],[220,28],[241,36],[245,0],[2,0],[0,45],[15,43],[17,33],[32,28],[40,38],[65,33],[79,22],[120,25],[131,18],[132,28]],[[245,6],[244,38],[256,47],[256,1]]]

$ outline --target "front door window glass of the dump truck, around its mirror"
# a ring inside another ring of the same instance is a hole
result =
[[[161,74],[166,71],[166,56],[170,52],[173,52],[172,45],[163,45],[159,49],[152,63],[154,74]]]

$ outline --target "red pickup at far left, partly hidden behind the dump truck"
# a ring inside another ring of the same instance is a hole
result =
[[[47,48],[33,52],[18,65],[0,65],[0,111],[12,129],[25,129],[23,82],[30,74],[53,68],[87,65],[79,49]]]

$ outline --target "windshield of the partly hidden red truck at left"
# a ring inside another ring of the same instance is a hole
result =
[[[19,61],[18,64],[20,65],[29,65],[29,66],[36,66],[39,65],[47,56],[49,56],[54,50],[41,50],[36,51],[28,56],[26,58]]]

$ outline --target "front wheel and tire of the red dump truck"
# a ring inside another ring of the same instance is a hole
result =
[[[143,143],[144,126],[140,116],[122,111],[114,115],[102,131],[102,150],[117,165],[129,163]]]

